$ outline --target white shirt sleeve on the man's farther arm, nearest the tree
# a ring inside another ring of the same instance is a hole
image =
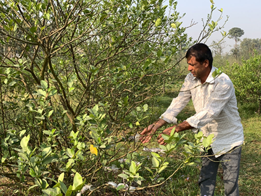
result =
[[[177,123],[176,116],[187,105],[190,99],[191,99],[191,93],[190,93],[189,78],[187,75],[180,89],[179,95],[171,101],[170,106],[161,115],[160,118],[168,123],[176,124]]]

